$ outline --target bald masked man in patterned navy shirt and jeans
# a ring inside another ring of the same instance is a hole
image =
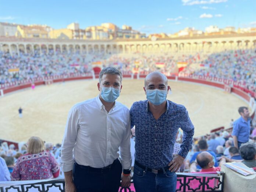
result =
[[[131,127],[135,125],[134,186],[136,192],[175,192],[176,171],[192,145],[194,126],[182,105],[166,100],[167,77],[152,72],[145,78],[147,100],[132,104]],[[173,155],[178,129],[183,142]]]

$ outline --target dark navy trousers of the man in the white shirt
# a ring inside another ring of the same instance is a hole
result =
[[[74,164],[73,178],[77,192],[118,192],[122,165],[118,159],[103,168]]]

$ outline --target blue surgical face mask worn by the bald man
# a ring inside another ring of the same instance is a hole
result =
[[[147,99],[154,105],[162,104],[167,97],[167,90],[153,89],[146,90]]]

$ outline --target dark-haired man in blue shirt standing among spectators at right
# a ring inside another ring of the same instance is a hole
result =
[[[242,143],[249,141],[250,113],[247,107],[239,107],[238,113],[241,117],[234,122],[232,136],[234,139],[234,146],[239,149]]]

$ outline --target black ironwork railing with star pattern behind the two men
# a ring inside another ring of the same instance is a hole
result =
[[[223,172],[217,174],[177,173],[176,192],[223,192],[224,175]],[[64,179],[0,182],[0,192],[64,192],[64,189]],[[131,187],[120,188],[119,192],[135,191]]]

